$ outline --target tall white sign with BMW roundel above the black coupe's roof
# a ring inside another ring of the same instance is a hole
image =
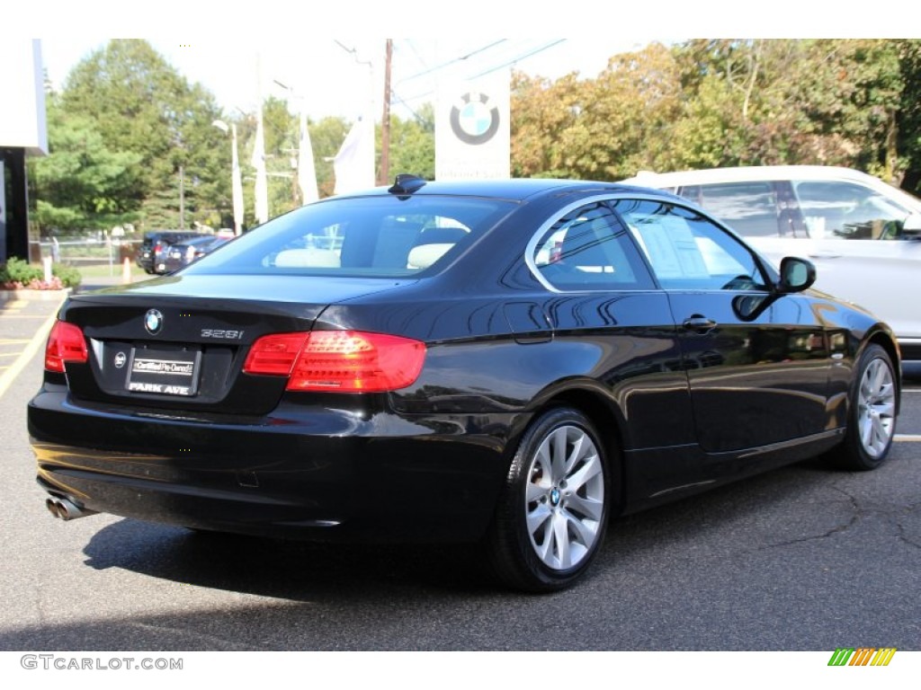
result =
[[[435,178],[509,177],[509,79],[502,70],[445,86],[435,116]]]

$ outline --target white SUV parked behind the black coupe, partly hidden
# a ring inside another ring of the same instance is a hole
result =
[[[623,181],[694,201],[775,263],[810,259],[817,289],[869,309],[895,331],[904,359],[921,360],[921,200],[844,167],[641,172]]]

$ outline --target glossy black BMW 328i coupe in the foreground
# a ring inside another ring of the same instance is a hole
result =
[[[29,403],[61,518],[480,542],[565,587],[610,518],[827,454],[880,466],[892,331],[667,192],[429,182],[72,295]]]

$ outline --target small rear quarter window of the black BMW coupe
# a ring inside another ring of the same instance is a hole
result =
[[[650,290],[642,259],[603,203],[567,213],[539,239],[531,257],[543,282],[557,290]]]

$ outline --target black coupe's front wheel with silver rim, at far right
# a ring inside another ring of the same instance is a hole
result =
[[[899,384],[892,358],[880,345],[869,345],[857,363],[845,440],[832,452],[835,465],[853,471],[882,465],[895,436],[898,399]]]

